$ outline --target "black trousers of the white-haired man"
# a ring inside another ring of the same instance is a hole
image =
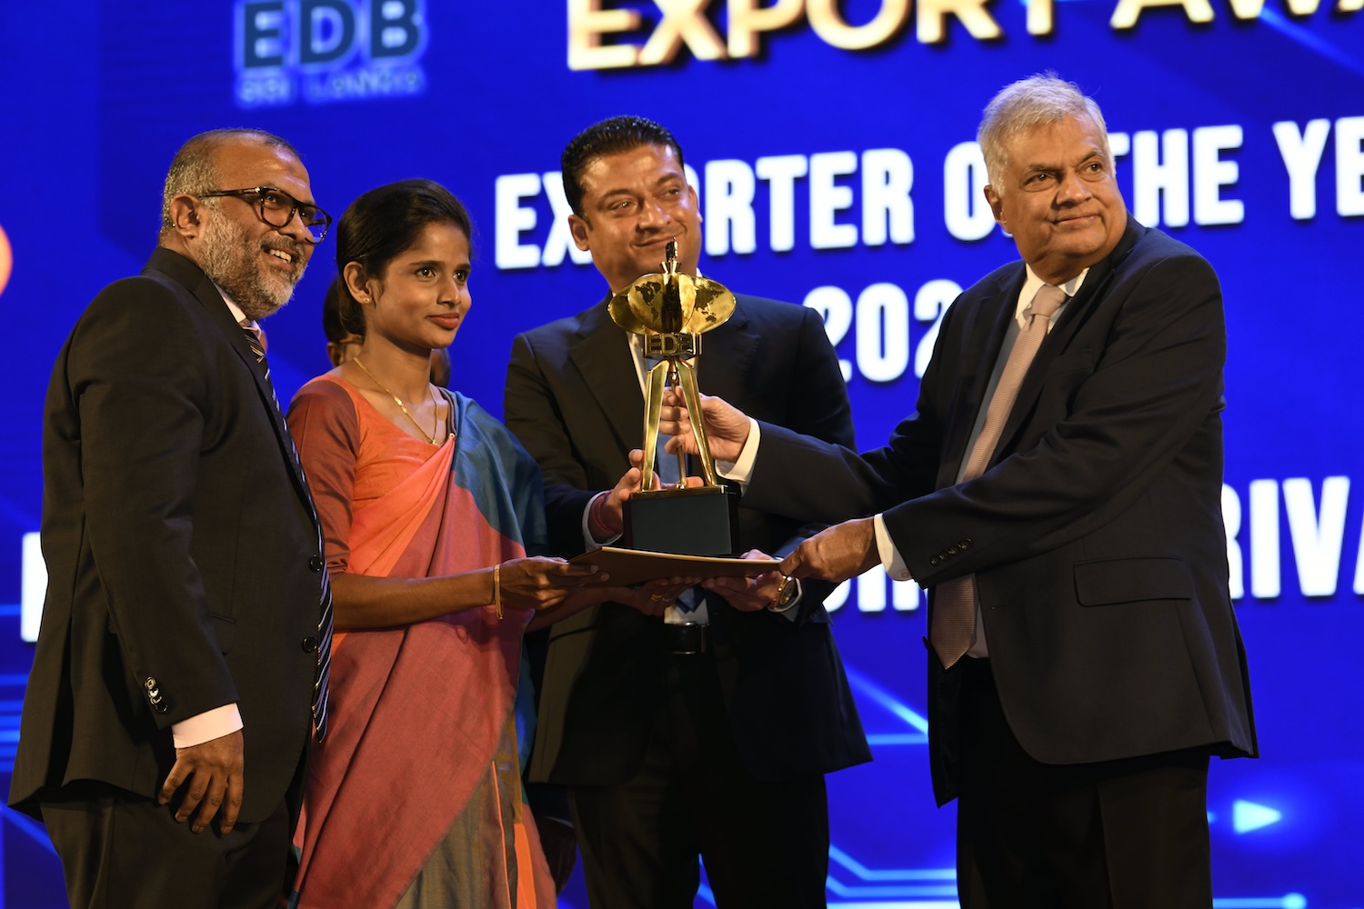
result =
[[[1206,748],[1038,763],[1009,730],[989,660],[952,672],[963,909],[1210,909]]]

